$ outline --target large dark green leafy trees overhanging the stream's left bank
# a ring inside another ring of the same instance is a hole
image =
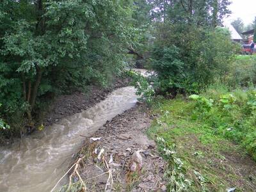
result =
[[[44,100],[92,83],[108,86],[136,39],[133,6],[126,0],[0,2],[0,113],[13,134],[20,134],[16,120],[18,127],[34,126]]]

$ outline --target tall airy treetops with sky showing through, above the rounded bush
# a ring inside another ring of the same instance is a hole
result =
[[[156,20],[172,23],[196,24],[198,26],[218,26],[228,10],[230,0],[149,0],[156,10],[152,12]]]

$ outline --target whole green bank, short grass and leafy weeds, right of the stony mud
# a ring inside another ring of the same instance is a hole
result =
[[[193,99],[159,99],[148,130],[168,162],[173,191],[256,188],[255,93],[211,89]],[[250,154],[250,156],[248,156]]]

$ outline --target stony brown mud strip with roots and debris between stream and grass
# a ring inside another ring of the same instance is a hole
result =
[[[112,186],[115,191],[166,191],[165,163],[154,141],[145,135],[151,122],[143,105],[138,104],[86,138],[77,158],[86,156],[79,173],[90,191],[104,191],[107,183],[107,188]],[[113,183],[108,180],[108,167]]]

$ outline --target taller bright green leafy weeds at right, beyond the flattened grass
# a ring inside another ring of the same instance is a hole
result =
[[[216,133],[243,145],[255,159],[255,93],[255,90],[226,92],[223,95],[215,96],[216,102],[214,103],[210,101],[212,99],[206,99],[204,96],[191,95],[189,98],[196,100],[192,118],[200,116],[199,119],[212,127]],[[212,96],[214,97],[214,95]]]

